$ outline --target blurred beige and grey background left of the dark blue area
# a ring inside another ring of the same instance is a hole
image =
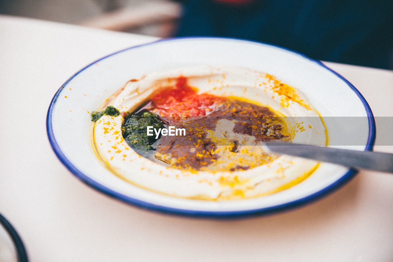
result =
[[[171,0],[0,0],[0,13],[169,37],[181,5]]]

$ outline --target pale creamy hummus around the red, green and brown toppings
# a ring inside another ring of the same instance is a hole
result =
[[[274,112],[274,117],[281,116],[280,125],[285,126],[285,130],[282,129],[284,131],[279,137],[284,140],[321,146],[327,144],[327,131],[322,119],[299,90],[274,76],[247,68],[190,67],[132,79],[103,104],[101,109],[112,105],[121,112],[118,116],[103,115],[95,122],[92,132],[97,155],[112,173],[129,183],[162,194],[221,200],[271,194],[296,185],[318,168],[316,161],[267,152],[262,138],[236,131],[241,122],[238,118],[216,119],[214,127],[207,130],[208,134],[205,132],[204,138],[214,138],[217,142],[214,149],[217,157],[208,163],[208,168],[176,165],[180,157],[174,157],[171,154],[173,150],[165,145],[173,145],[176,141],[181,143],[181,139],[176,140],[179,137],[163,137],[161,141],[167,144],[162,142],[161,146],[158,145],[154,158],[138,154],[122,135],[126,112],[138,111],[154,94],[165,87],[175,86],[179,77],[187,79],[187,85],[195,87],[198,94],[233,98],[238,101],[239,107],[253,109],[263,106]],[[162,112],[156,111],[162,116]],[[217,116],[217,112],[210,116]],[[188,123],[191,124],[186,129],[190,131],[195,123]],[[228,141],[236,141],[236,149]],[[187,150],[184,152],[195,151],[192,146]],[[178,152],[182,153],[181,150]],[[184,156],[184,159],[191,158]]]

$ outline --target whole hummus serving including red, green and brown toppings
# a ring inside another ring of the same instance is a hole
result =
[[[101,113],[93,127],[101,161],[125,181],[172,196],[239,199],[289,188],[318,162],[272,154],[264,142],[327,143],[301,92],[247,68],[148,74],[127,82],[100,110],[112,107],[119,114]],[[149,125],[185,132],[148,136]]]

